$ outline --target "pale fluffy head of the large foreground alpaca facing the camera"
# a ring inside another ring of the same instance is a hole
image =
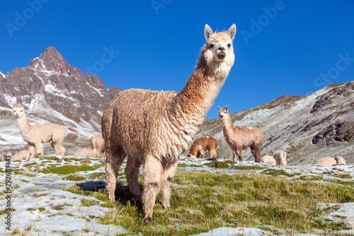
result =
[[[212,32],[210,26],[205,25],[204,34],[207,39],[204,57],[208,66],[215,64],[219,67],[225,64],[231,68],[235,60],[232,40],[236,34],[236,25],[233,24],[227,31],[215,33]]]

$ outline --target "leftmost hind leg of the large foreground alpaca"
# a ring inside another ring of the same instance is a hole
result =
[[[115,187],[117,184],[118,170],[125,159],[123,152],[112,152],[107,150],[107,159],[105,159],[105,174],[107,177],[107,185],[105,190],[108,193],[108,198],[112,203],[115,203]]]

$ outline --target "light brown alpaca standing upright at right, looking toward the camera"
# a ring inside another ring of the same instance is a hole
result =
[[[261,162],[264,140],[262,130],[253,127],[234,126],[227,106],[225,108],[219,107],[219,117],[224,126],[225,140],[232,149],[234,160],[236,161],[236,158],[239,157],[239,160],[242,161],[242,150],[250,147],[255,162]]]

